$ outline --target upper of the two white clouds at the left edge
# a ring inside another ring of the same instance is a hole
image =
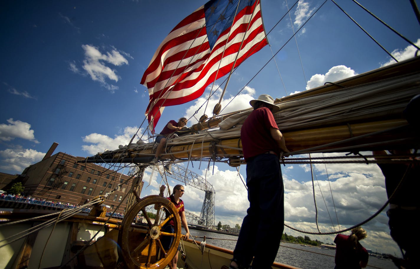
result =
[[[0,124],[0,140],[11,141],[15,138],[26,139],[35,143],[39,143],[35,139],[34,130],[31,129],[31,124],[23,121],[14,121],[12,118],[8,119],[9,124]]]

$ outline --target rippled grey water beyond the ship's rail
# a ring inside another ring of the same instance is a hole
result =
[[[215,232],[200,231],[195,229],[190,229],[189,231],[192,236],[206,236],[207,244],[215,245],[220,248],[226,248],[230,250],[233,250],[235,248],[236,240],[238,239],[238,237],[234,235],[224,235]],[[184,228],[182,229],[182,233],[185,234]],[[210,238],[220,238],[224,240]],[[194,240],[202,241],[203,239],[194,237]],[[310,246],[305,247],[299,244],[281,242],[276,257],[276,262],[299,267],[302,269],[333,269],[335,266],[334,256],[335,251],[330,249]],[[395,269],[396,266],[391,260],[383,260],[369,256],[369,261],[367,263],[366,268]]]

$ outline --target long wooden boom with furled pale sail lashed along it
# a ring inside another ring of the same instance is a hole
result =
[[[277,99],[281,110],[274,117],[287,147],[294,154],[410,148],[415,135],[402,112],[420,94],[418,70],[419,57]],[[195,124],[192,129],[199,134],[170,137],[163,156],[173,160],[243,159],[240,129],[251,111]],[[223,129],[216,129],[219,126]],[[153,145],[133,143],[81,162],[147,163],[154,156]]]

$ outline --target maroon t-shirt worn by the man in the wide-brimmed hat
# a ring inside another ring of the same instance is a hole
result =
[[[273,113],[265,107],[255,109],[245,119],[241,128],[245,161],[268,151],[274,151],[277,156],[280,156],[281,149],[276,140],[271,137],[270,127],[278,129]]]

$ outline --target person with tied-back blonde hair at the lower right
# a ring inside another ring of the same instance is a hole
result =
[[[334,239],[334,243],[336,243],[336,266],[334,269],[365,268],[369,254],[359,241],[366,237],[366,231],[360,226],[353,228],[351,235],[337,235]]]

